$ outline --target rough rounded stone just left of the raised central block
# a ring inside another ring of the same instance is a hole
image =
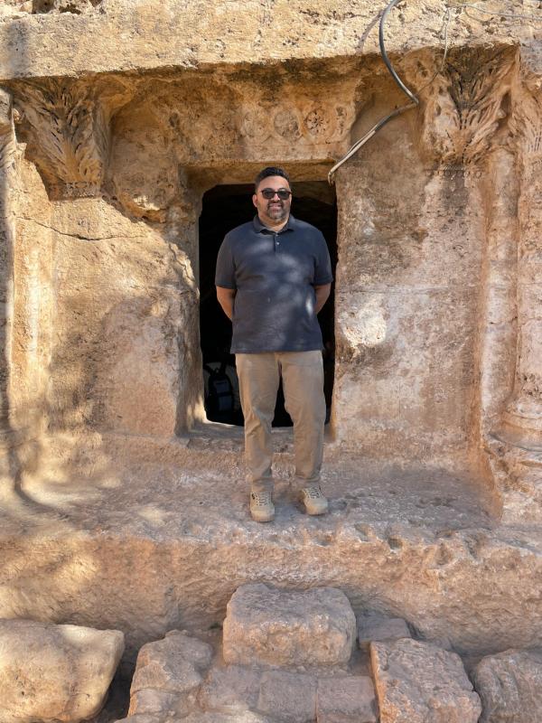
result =
[[[187,712],[211,657],[208,643],[181,631],[144,645],[137,656],[128,714]]]

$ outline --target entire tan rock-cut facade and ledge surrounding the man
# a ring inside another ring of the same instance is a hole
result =
[[[240,584],[327,585],[460,653],[541,643],[542,23],[524,5],[391,12],[419,103],[330,186],[408,101],[369,0],[0,3],[0,617],[122,629],[134,658],[223,620]],[[277,432],[261,529],[202,367],[228,346],[217,249],[267,164],[336,264],[331,512],[300,516]]]

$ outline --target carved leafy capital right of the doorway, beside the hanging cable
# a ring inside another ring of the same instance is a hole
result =
[[[437,164],[464,166],[487,153],[508,115],[513,64],[509,51],[462,52],[425,89],[424,80],[416,80],[422,88],[421,141]],[[425,69],[425,76],[430,72]]]

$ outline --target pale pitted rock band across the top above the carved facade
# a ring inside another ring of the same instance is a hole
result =
[[[45,5],[39,0],[35,5]],[[49,6],[65,5],[52,0]],[[0,72],[3,77],[42,75],[47,59],[51,75],[89,71],[133,71],[150,68],[191,68],[195,64],[253,62],[255,48],[261,62],[297,58],[346,56],[378,52],[378,33],[369,33],[375,22],[374,6],[351,5],[330,0],[325,6],[299,2],[280,4],[270,12],[262,0],[249,4],[235,0],[228,14],[214,2],[184,5],[167,0],[149,0],[134,5],[132,0],[108,0],[94,11],[81,12],[81,0],[72,0],[70,13],[26,15],[18,25],[0,27]],[[10,3],[11,5],[11,3]],[[21,4],[32,8],[33,3]],[[66,17],[66,15],[68,17]],[[388,23],[388,47],[404,52],[431,43],[441,43],[443,12],[433,0],[416,0]],[[56,21],[56,22],[55,22]],[[155,33],[156,26],[162,33]],[[182,28],[182,43],[179,40]],[[129,42],[119,42],[121,33],[130,33]],[[510,42],[510,37],[532,37],[529,23],[508,17],[473,14],[463,23],[450,23],[451,42]],[[366,31],[365,36],[360,33]],[[13,36],[26,53],[9,53]],[[277,43],[276,38],[281,42]],[[227,39],[227,42],[226,40]],[[71,50],[71,52],[70,52]],[[15,55],[15,57],[13,57]],[[23,56],[23,57],[20,57]]]

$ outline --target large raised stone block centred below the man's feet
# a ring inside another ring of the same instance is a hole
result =
[[[339,665],[350,660],[356,618],[334,587],[290,591],[259,583],[234,593],[223,630],[226,662]]]

